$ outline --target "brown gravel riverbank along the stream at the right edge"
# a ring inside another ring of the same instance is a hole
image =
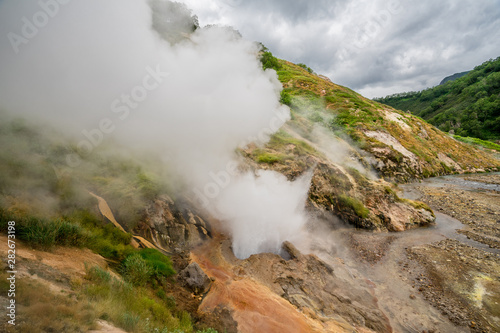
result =
[[[500,331],[500,175],[438,177],[403,188],[463,224],[455,236],[407,248],[415,288],[454,324]]]

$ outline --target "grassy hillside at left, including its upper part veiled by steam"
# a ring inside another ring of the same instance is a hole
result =
[[[129,332],[194,332],[191,316],[170,294],[181,288],[171,278],[170,258],[131,246],[132,235],[98,216],[89,194],[105,197],[117,220],[132,230],[144,207],[168,190],[155,176],[164,172],[160,164],[138,162],[103,142],[92,154],[79,155],[79,165],[69,166],[67,156],[78,151],[63,135],[0,117],[0,232],[15,221],[16,239],[28,246],[89,248],[115,271],[88,268],[84,281],[68,282],[71,297],[19,279],[16,301],[23,321],[16,331],[81,332],[104,319]]]

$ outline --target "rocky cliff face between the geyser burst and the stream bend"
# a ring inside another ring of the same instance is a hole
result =
[[[312,170],[308,206],[310,211],[327,219],[337,216],[359,228],[389,231],[403,231],[434,222],[433,213],[427,206],[399,199],[393,184],[371,179],[349,164],[332,162],[319,147],[315,149],[314,143],[307,150],[300,145],[300,141],[290,139],[285,146],[273,141],[266,146],[267,154],[291,157],[283,163],[258,163],[261,152],[255,146],[245,149],[243,154],[249,167],[275,170],[290,180]],[[361,165],[360,170],[366,169]]]

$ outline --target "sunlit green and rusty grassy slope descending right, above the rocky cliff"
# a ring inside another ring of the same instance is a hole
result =
[[[385,176],[409,180],[454,172],[453,167],[438,158],[439,153],[451,158],[464,170],[500,166],[499,161],[484,151],[458,142],[418,117],[366,99],[290,62],[281,60],[280,65],[278,76],[284,86],[282,100],[290,101],[294,116],[292,123],[306,131],[312,123],[320,123],[334,133],[345,132],[358,147],[370,153],[375,153],[377,148],[389,148],[387,156],[377,156],[386,164],[396,164],[394,168],[382,170]],[[408,127],[394,121],[394,117]],[[368,137],[367,131],[385,132],[397,139],[415,154],[421,170],[406,165],[398,151]]]

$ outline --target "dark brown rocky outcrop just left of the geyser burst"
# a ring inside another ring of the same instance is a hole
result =
[[[206,240],[210,226],[182,200],[163,195],[146,207],[136,231],[160,248],[179,252]]]

